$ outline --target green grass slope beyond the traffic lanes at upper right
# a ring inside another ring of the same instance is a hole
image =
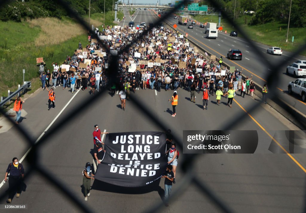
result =
[[[194,19],[205,22],[215,22],[218,23],[218,16],[210,15],[196,15]],[[243,15],[235,20],[239,24],[244,32],[254,41],[259,43],[267,44],[269,46],[281,47],[283,50],[288,50],[291,52],[296,51],[301,45],[305,43],[306,40],[306,28],[289,28],[288,43],[286,43],[287,36],[287,24],[273,22],[267,24],[261,24],[256,26],[250,26],[248,23],[252,19],[252,16]],[[227,33],[235,30],[227,20],[221,18],[221,26],[223,27],[223,32],[226,30]],[[238,32],[239,36],[239,32]],[[292,43],[292,36],[294,36],[294,42]],[[306,51],[301,53],[306,55]]]

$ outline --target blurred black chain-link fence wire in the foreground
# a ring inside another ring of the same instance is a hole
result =
[[[88,23],[84,21],[83,18],[81,18],[78,14],[74,12],[73,9],[68,5],[67,2],[64,0],[56,0],[54,1],[58,5],[60,5],[62,8],[64,8],[70,17],[74,17],[79,24],[81,24],[86,30],[88,30],[92,35],[95,35],[93,38],[97,39],[101,46],[106,48],[106,45],[104,44],[104,41],[99,40],[99,38],[94,33],[93,29],[88,29]],[[163,15],[161,18],[158,19],[154,23],[154,26],[157,26],[158,24],[162,23],[167,19],[168,16],[176,12],[176,9],[180,8],[182,5],[186,4],[187,0],[181,1],[180,4],[178,4],[175,8],[171,9],[168,13]],[[222,5],[218,3],[218,1],[209,0],[209,2],[215,7],[215,8],[222,8]],[[4,4],[9,3],[9,1],[2,1],[0,3],[0,6],[3,6]],[[281,62],[278,65],[272,65],[267,58],[265,58],[262,54],[259,48],[255,45],[255,43],[248,37],[248,35],[244,32],[244,30],[241,28],[241,26],[237,25],[235,22],[232,21],[232,18],[222,9],[221,10],[222,16],[226,18],[234,28],[237,29],[237,31],[246,39],[246,41],[249,43],[250,47],[256,52],[258,57],[260,58],[261,63],[264,63],[267,66],[267,69],[270,69],[271,71],[267,73],[267,84],[269,85],[269,93],[268,98],[273,97],[273,99],[277,99],[277,93],[276,93],[276,84],[278,82],[278,79],[280,77],[280,74],[278,73],[278,69],[284,65],[286,62]],[[140,33],[138,38],[142,38],[147,35],[147,33],[152,29],[153,27],[150,26],[147,29],[145,29],[142,33]],[[132,41],[130,44],[126,45],[121,51],[118,51],[118,55],[129,52],[129,48],[132,47],[132,44],[136,42],[138,39],[136,38],[134,41]],[[291,53],[290,58],[296,57],[302,50],[304,50],[306,47],[306,44],[301,45],[299,49],[297,49],[295,52]],[[109,55],[109,49],[106,48],[106,52]],[[109,85],[112,85],[113,83],[117,83],[118,79],[116,79],[116,72],[114,70],[118,70],[118,56],[112,56],[109,60],[109,70],[113,70],[113,72],[110,72],[108,74],[109,79]],[[27,140],[28,144],[31,146],[30,153],[27,155],[25,160],[28,161],[30,168],[27,169],[27,172],[25,174],[25,179],[28,179],[31,177],[31,174],[33,172],[40,173],[43,177],[45,177],[48,181],[50,181],[51,184],[53,184],[54,188],[59,189],[63,194],[65,194],[79,209],[83,212],[93,212],[88,206],[85,206],[83,202],[80,202],[80,200],[77,198],[75,193],[73,193],[66,185],[62,184],[62,182],[56,178],[56,175],[50,173],[47,169],[45,169],[43,166],[39,165],[39,159],[38,159],[38,152],[37,150],[39,147],[41,147],[43,144],[46,143],[47,138],[51,136],[51,133],[56,132],[60,129],[62,129],[66,123],[73,117],[78,116],[81,109],[84,109],[85,107],[92,105],[93,103],[97,102],[102,98],[103,93],[107,92],[107,88],[102,88],[99,93],[95,96],[89,96],[87,99],[85,99],[82,103],[74,107],[73,110],[69,111],[65,116],[62,116],[60,121],[58,122],[58,125],[52,126],[49,131],[47,131],[40,139],[32,140],[30,137],[30,133],[27,132],[21,125],[15,125],[14,121],[9,118],[8,115],[0,108],[0,113],[2,113],[8,120],[10,120],[14,125],[15,128],[18,130],[18,132]],[[147,115],[147,118],[150,119],[150,121],[158,125],[161,129],[163,129],[165,132],[167,129],[170,129],[169,126],[164,124],[161,120],[159,120],[151,111],[147,110],[147,108],[144,106],[144,104],[137,99],[134,96],[130,96],[130,100],[135,104],[135,106],[138,107],[140,111],[142,111],[144,114]],[[249,113],[252,113],[254,110],[256,110],[261,103],[254,104],[249,110]],[[297,116],[295,114],[292,115]],[[231,122],[226,123],[226,125],[222,126],[220,129],[222,130],[230,130],[235,128],[235,126],[245,118],[244,114],[237,115],[234,120]],[[297,118],[297,117],[296,117]],[[297,118],[299,119],[299,118]],[[176,141],[177,147],[181,150],[183,149],[183,142],[180,138],[177,138],[177,136],[173,135],[174,141]],[[205,194],[218,208],[219,210],[223,212],[233,212],[229,206],[227,206],[222,200],[220,200],[214,191],[211,191],[208,189],[208,187],[200,181],[199,177],[196,176],[196,172],[194,172],[194,168],[191,166],[193,165],[193,162],[196,160],[198,155],[195,154],[185,154],[184,160],[180,162],[180,170],[183,171],[184,177],[180,181],[180,184],[177,184],[175,189],[172,191],[172,194],[170,196],[170,200],[175,199],[175,197],[179,196],[179,194],[183,193],[184,190],[190,185],[194,184],[196,185],[202,192]],[[2,192],[0,195],[1,199],[4,199],[6,196],[6,192]],[[163,206],[163,203],[160,202],[159,204],[156,204],[154,207],[151,207],[150,209],[147,209],[145,212],[153,213],[158,212],[159,209]]]

